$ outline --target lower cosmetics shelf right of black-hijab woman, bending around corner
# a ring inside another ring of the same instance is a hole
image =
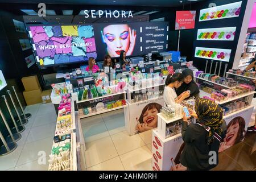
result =
[[[199,88],[200,90],[208,93],[210,98],[220,105],[225,104],[226,102],[238,100],[242,97],[253,95],[255,93],[255,87],[246,84],[238,84],[238,86],[235,88],[222,90],[215,90],[199,84]]]

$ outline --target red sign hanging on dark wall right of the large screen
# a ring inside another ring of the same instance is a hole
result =
[[[175,30],[195,28],[196,11],[176,11]]]

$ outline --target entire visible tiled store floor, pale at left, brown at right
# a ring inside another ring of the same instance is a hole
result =
[[[256,106],[256,101],[253,102]],[[55,131],[56,113],[52,104],[26,107],[31,113],[18,148],[6,156],[0,156],[0,170],[47,170]],[[254,123],[254,114],[250,126]],[[86,166],[93,170],[151,170],[152,131],[130,137],[125,130],[123,110],[81,119],[86,142]],[[45,158],[46,164],[39,164]],[[256,132],[247,133],[243,142],[222,152],[220,163],[213,170],[255,170]]]

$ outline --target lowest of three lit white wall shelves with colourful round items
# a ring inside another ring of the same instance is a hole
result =
[[[196,47],[195,57],[229,62],[231,49]]]

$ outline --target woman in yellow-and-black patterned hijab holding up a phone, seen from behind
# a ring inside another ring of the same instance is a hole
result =
[[[183,115],[181,134],[185,146],[180,163],[188,170],[209,170],[218,164],[220,141],[225,137],[222,131],[222,124],[225,123],[222,108],[211,100],[199,98],[195,110],[196,113],[191,112],[196,118],[195,124],[188,126],[187,117]]]

